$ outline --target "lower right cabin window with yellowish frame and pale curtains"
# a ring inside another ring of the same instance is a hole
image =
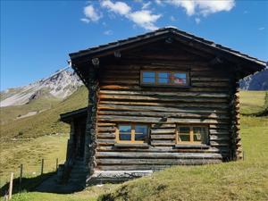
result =
[[[207,144],[208,129],[205,126],[184,126],[177,127],[177,144]]]

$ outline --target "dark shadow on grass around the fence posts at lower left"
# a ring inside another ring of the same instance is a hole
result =
[[[38,187],[38,185],[40,185],[44,180],[50,178],[54,174],[55,172],[48,172],[33,178],[22,178],[21,185],[20,185],[20,178],[15,178],[13,180],[13,194],[17,194],[22,191],[27,192],[34,191]],[[4,195],[8,193],[8,188],[9,188],[9,182],[0,188],[1,197],[4,197]]]

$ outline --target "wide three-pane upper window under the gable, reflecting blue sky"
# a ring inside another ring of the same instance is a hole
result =
[[[141,71],[141,84],[157,86],[188,86],[186,71]]]

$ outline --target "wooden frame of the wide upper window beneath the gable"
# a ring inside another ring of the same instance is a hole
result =
[[[154,83],[147,83],[143,81],[143,72],[155,72],[155,82]],[[159,83],[158,82],[158,73],[185,73],[186,74],[186,84],[178,85],[173,83]],[[147,87],[172,87],[172,88],[188,88],[190,86],[190,79],[189,79],[189,71],[140,71],[139,74],[139,82],[141,86],[147,86]]]

